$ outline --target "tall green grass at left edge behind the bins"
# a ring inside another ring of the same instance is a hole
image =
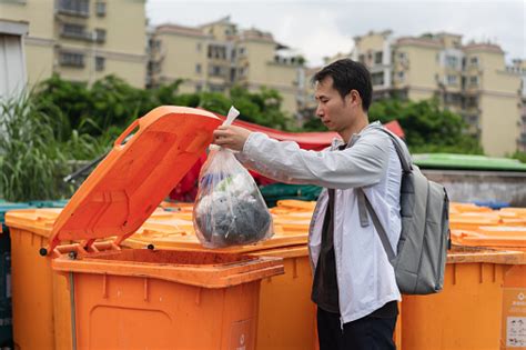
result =
[[[62,181],[72,171],[68,161],[97,158],[111,139],[111,132],[95,139],[72,130],[60,108],[42,106],[31,92],[0,101],[0,196],[9,201],[70,197],[74,188]]]

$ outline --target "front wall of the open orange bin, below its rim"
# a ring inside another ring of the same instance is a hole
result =
[[[259,282],[206,289],[120,276],[73,279],[78,349],[254,349]]]

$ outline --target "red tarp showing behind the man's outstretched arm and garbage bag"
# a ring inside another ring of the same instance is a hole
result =
[[[225,117],[216,114],[218,117],[224,119]],[[266,133],[269,137],[280,140],[280,141],[295,141],[300,144],[300,148],[305,150],[315,150],[321,151],[324,148],[331,146],[334,138],[340,138],[336,132],[286,132],[281,130],[275,130],[266,127],[261,127],[247,121],[236,120],[234,126],[246,128],[251,131],[259,131]],[[396,136],[404,138],[404,131],[402,130],[399,123],[394,120],[386,124],[385,128],[393,131]],[[198,178],[202,164],[206,160],[206,154],[202,154],[193,168],[186,173],[186,176],[179,182],[170,193],[170,198],[179,201],[193,201],[198,193]],[[251,171],[251,174],[254,177],[257,184],[269,184],[275,181],[267,179]]]

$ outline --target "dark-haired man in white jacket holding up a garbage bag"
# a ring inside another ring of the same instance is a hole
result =
[[[314,210],[308,248],[314,269],[320,349],[394,349],[397,300],[394,269],[374,224],[362,223],[364,190],[396,251],[401,233],[402,168],[388,136],[368,123],[371,74],[348,59],[318,71],[316,116],[342,140],[321,152],[279,142],[260,132],[220,127],[214,143],[240,151],[250,169],[277,181],[325,189]]]

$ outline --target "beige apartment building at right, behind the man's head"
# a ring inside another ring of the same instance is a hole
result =
[[[371,70],[375,99],[436,97],[463,116],[487,154],[525,147],[520,76],[506,67],[499,46],[463,44],[462,36],[445,32],[401,38],[370,32],[354,41],[350,57]]]

